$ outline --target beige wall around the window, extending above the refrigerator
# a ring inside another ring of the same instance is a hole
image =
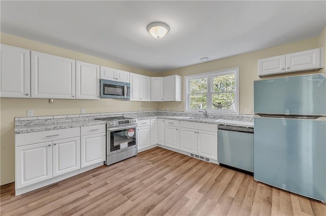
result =
[[[184,76],[239,67],[239,113],[244,114],[245,109],[253,110],[253,81],[260,79],[257,75],[258,59],[325,47],[325,29],[326,28],[324,28],[323,33],[320,34],[320,36],[317,38],[208,61],[207,63],[178,68],[175,70],[160,73],[160,76],[168,76],[173,74],[182,76],[182,102],[161,102],[157,104],[157,108],[158,110],[167,110],[169,107],[169,110],[184,111]],[[320,71],[325,70],[323,69]],[[305,73],[315,72],[308,71]]]

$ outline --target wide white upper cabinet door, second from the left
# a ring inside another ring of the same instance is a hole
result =
[[[32,98],[75,98],[75,60],[35,51],[31,58]]]

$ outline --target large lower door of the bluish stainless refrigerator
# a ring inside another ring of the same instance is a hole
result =
[[[326,122],[255,117],[254,178],[326,201]]]

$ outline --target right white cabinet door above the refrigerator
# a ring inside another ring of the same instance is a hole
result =
[[[320,68],[321,50],[318,48],[287,54],[286,71],[303,71]]]

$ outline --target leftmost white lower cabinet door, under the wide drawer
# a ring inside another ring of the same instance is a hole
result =
[[[15,189],[52,177],[52,142],[15,148]]]

